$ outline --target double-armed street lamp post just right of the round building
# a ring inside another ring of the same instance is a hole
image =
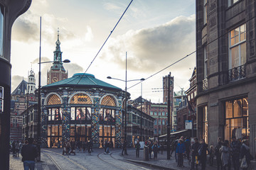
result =
[[[124,141],[127,142],[127,82],[129,81],[144,81],[145,79],[132,79],[132,80],[127,80],[127,52],[125,55],[125,80],[122,79],[116,79],[112,77],[107,77],[107,79],[115,79],[119,81],[124,81],[125,82],[125,102],[124,102]]]

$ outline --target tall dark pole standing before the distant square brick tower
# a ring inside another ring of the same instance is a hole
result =
[[[170,148],[170,143],[171,143],[171,104],[170,104],[170,77],[171,77],[171,73],[169,73],[168,75],[168,124],[167,124],[167,159],[171,159],[171,155],[170,155],[170,152],[171,152],[171,148]]]

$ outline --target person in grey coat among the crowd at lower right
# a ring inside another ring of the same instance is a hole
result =
[[[228,147],[228,140],[223,142],[223,145],[220,147],[221,161],[223,163],[223,169],[230,169],[230,148]]]

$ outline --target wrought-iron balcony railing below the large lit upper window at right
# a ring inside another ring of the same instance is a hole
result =
[[[228,70],[228,81],[235,81],[245,78],[245,65]]]

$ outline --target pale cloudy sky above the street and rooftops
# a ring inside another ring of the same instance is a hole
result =
[[[36,73],[38,86],[38,57],[40,17],[42,17],[41,62],[53,61],[53,51],[60,34],[60,50],[68,77],[85,72],[116,25],[130,0],[33,0],[31,7],[19,16],[11,34],[11,91]],[[163,101],[163,77],[171,72],[174,91],[189,88],[196,54],[168,67],[196,50],[196,2],[194,0],[134,0],[109,40],[86,73],[109,84],[125,88],[131,98],[139,96],[154,103]],[[52,64],[41,64],[41,85],[46,85],[46,73]],[[161,69],[164,71],[159,72]],[[155,74],[159,72],[158,74]],[[154,75],[155,74],[155,75]],[[151,77],[154,75],[153,77]],[[130,88],[133,86],[132,88]]]

